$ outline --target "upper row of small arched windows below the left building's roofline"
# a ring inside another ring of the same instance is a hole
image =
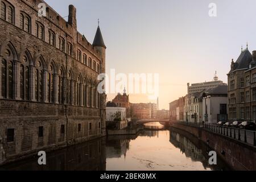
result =
[[[31,34],[31,18],[30,16],[23,12],[20,11],[20,28],[28,33]],[[11,5],[11,3],[2,0],[1,1],[1,19],[6,20],[9,23],[15,24],[14,23],[14,18],[15,18],[15,10],[14,10],[14,6]],[[36,37],[44,40],[45,41],[45,30],[44,30],[44,26],[42,23],[36,21],[35,22],[35,34]],[[52,30],[48,30],[47,32],[47,39],[48,39],[48,43],[51,44],[52,46],[56,47],[56,34],[54,31]],[[65,39],[61,36],[59,36],[59,49],[60,51],[66,52],[69,56],[73,56],[73,46],[70,42],[67,42],[67,49],[65,48]],[[93,61],[92,63],[92,59],[89,57],[89,59],[87,60],[87,56],[85,54],[83,54],[82,57],[82,52],[78,49],[77,50],[77,60],[79,60],[80,62],[84,63],[86,66],[88,66],[89,68],[93,69],[94,71],[100,73],[100,64],[96,63],[96,61]]]

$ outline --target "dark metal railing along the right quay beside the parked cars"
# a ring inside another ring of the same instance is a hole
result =
[[[235,127],[218,126],[213,124],[204,124],[204,129],[213,133],[224,135],[241,142],[256,146],[256,131],[243,130]]]

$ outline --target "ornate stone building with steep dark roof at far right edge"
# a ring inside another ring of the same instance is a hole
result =
[[[228,73],[228,119],[256,120],[256,51],[242,50]]]

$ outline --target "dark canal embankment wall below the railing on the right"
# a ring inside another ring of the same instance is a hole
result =
[[[256,147],[204,128],[172,123],[172,127],[187,131],[209,144],[210,148],[235,170],[256,170]]]

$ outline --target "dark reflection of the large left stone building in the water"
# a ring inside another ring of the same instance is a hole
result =
[[[106,139],[76,144],[47,153],[47,164],[39,166],[38,156],[0,167],[0,170],[22,171],[105,171]]]

